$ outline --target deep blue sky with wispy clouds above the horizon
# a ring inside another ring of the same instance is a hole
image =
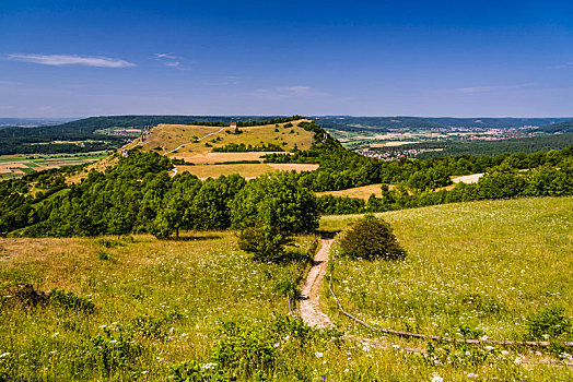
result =
[[[0,0],[0,117],[573,115],[571,1]]]

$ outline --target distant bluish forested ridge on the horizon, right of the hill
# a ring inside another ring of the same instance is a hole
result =
[[[573,120],[565,118],[453,118],[453,117],[352,117],[352,116],[328,116],[313,117],[324,128],[342,130],[385,129],[397,128],[493,128],[511,129],[525,126],[551,127],[557,123]]]

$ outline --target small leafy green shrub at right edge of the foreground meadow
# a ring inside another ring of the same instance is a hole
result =
[[[565,317],[565,308],[551,306],[527,318],[527,329],[533,338],[556,339],[571,330],[571,318]]]

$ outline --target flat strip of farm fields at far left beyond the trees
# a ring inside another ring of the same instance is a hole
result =
[[[12,179],[50,168],[93,163],[105,157],[102,152],[86,154],[2,155],[0,156],[0,180]]]

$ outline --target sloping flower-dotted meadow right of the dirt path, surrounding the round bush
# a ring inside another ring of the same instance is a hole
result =
[[[530,313],[558,305],[573,314],[572,212],[573,198],[539,198],[377,214],[406,260],[351,261],[335,244],[335,288],[349,312],[379,327],[458,337],[466,326],[492,339],[524,339]],[[321,228],[355,218],[326,216]]]

